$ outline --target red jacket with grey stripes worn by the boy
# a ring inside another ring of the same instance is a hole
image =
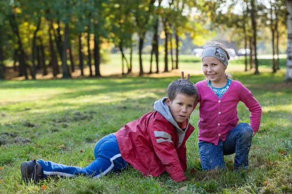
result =
[[[129,122],[115,135],[123,159],[143,175],[156,177],[166,170],[174,181],[180,182],[186,179],[185,141],[194,127],[189,124],[184,131],[178,131],[181,138],[184,136],[180,146],[177,130],[181,129],[154,111]]]

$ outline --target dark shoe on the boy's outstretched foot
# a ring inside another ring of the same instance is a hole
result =
[[[21,170],[21,180],[25,183],[29,181],[38,182],[39,179],[43,177],[43,170],[40,163],[36,162],[36,160],[22,162],[20,166]]]

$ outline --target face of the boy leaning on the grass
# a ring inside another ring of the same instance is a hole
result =
[[[172,101],[167,97],[166,104],[177,123],[186,120],[193,112],[195,97],[178,94]]]

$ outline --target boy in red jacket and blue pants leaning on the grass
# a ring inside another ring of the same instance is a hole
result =
[[[99,178],[121,171],[127,163],[145,176],[156,177],[166,170],[174,181],[186,180],[185,141],[194,131],[189,116],[198,90],[192,82],[180,79],[169,84],[167,96],[154,103],[154,112],[99,140],[94,148],[95,161],[87,167],[33,160],[21,164],[22,180],[38,181],[50,175]]]

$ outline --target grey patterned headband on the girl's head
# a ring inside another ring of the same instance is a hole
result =
[[[227,53],[225,50],[219,48],[219,47],[207,47],[202,52],[202,61],[204,57],[211,56],[218,59],[222,64],[224,64],[226,67],[228,66],[228,58]]]

